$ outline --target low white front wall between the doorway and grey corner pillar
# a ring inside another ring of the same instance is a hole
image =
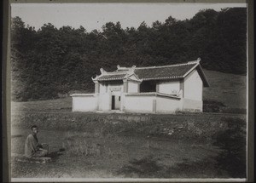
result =
[[[153,100],[152,95],[125,95],[124,111],[125,112],[153,112]]]

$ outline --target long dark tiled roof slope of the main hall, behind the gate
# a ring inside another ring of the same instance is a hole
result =
[[[152,80],[157,78],[183,78],[195,64],[183,64],[173,66],[155,66],[155,67],[137,67],[135,74],[143,80]]]

